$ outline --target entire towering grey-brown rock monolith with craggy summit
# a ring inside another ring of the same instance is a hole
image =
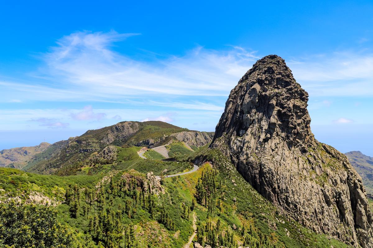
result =
[[[373,247],[361,178],[343,154],[314,138],[307,101],[285,61],[266,56],[231,91],[211,147],[289,217],[355,247]]]

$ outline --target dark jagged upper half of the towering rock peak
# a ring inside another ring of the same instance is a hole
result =
[[[268,55],[258,60],[231,91],[214,139],[232,132],[242,136],[249,126],[261,124],[254,122],[266,117],[269,132],[258,136],[258,142],[268,140],[277,123],[289,146],[301,145],[306,151],[307,142],[313,139],[307,101],[307,92],[295,81],[285,60]]]

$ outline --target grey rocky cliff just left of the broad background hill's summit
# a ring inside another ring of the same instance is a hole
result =
[[[140,129],[138,122],[119,122],[112,126],[101,139],[102,143],[110,144],[113,141],[126,141]]]

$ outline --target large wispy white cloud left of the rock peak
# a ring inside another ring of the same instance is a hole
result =
[[[137,61],[112,50],[112,44],[134,34],[77,32],[60,39],[44,56],[46,65],[34,73],[59,87],[12,81],[4,86],[44,95],[45,100],[109,100],[144,94],[227,95],[257,60],[254,52],[235,47],[225,51],[196,47],[185,56],[152,63]],[[16,79],[14,80],[16,81]],[[25,83],[27,85],[27,83]]]

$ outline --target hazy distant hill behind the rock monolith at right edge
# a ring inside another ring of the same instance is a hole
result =
[[[373,198],[373,157],[366,156],[361,151],[350,151],[345,155],[363,179],[367,194]]]

